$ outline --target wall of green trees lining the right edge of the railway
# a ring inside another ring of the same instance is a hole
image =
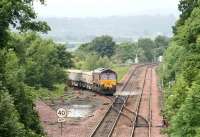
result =
[[[180,19],[160,66],[170,137],[200,136],[200,1],[181,0]]]

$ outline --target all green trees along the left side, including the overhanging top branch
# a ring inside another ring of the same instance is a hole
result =
[[[42,3],[43,0],[40,0]],[[65,79],[64,68],[72,65],[62,45],[35,33],[50,30],[36,21],[33,0],[0,1],[0,136],[40,137],[43,129],[34,109],[34,92],[52,89]]]

